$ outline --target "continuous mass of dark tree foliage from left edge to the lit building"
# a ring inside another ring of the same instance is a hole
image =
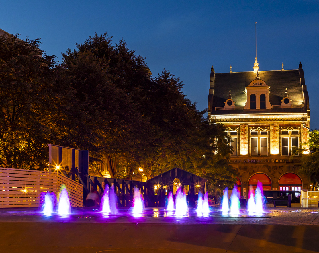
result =
[[[111,177],[121,166],[147,179],[178,166],[229,186],[230,137],[204,119],[164,70],[152,77],[145,58],[123,40],[94,34],[56,64],[39,40],[0,38],[0,155],[2,166],[46,168],[47,143],[90,150]]]

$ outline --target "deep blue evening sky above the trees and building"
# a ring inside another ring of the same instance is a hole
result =
[[[146,58],[153,76],[169,70],[197,108],[207,107],[211,65],[216,73],[252,71],[255,22],[259,70],[298,69],[310,96],[310,127],[319,128],[319,1],[5,1],[0,28],[41,37],[61,60],[94,33],[123,38]]]

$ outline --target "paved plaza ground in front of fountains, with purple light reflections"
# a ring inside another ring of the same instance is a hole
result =
[[[163,209],[133,217],[72,209],[67,217],[34,208],[0,210],[0,252],[319,252],[318,208],[275,208],[237,217],[218,209],[175,217]]]

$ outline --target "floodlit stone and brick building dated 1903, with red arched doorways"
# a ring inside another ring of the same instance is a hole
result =
[[[302,154],[292,156],[293,147],[308,150],[302,146],[310,120],[302,64],[259,71],[256,62],[252,72],[215,73],[211,67],[208,115],[232,137],[228,162],[239,171],[241,196],[258,180],[264,190],[309,188],[309,178],[299,173]]]

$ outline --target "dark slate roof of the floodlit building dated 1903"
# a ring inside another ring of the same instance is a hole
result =
[[[303,98],[304,95],[302,86],[300,84],[301,76],[299,70],[272,70],[259,71],[258,73],[260,80],[264,81],[268,86],[270,86],[269,101],[271,105],[281,104],[281,100],[285,97],[286,88],[288,96],[292,100],[293,105],[301,105],[303,102],[305,102]],[[253,71],[215,73],[211,111],[214,111],[215,107],[222,107],[225,105],[225,102],[228,99],[229,91],[231,91],[232,99],[234,100],[236,106],[245,106],[245,103],[247,102],[245,89],[251,81],[255,80],[255,78],[256,73]],[[305,109],[307,109],[307,107]],[[222,112],[220,111],[220,113]]]

